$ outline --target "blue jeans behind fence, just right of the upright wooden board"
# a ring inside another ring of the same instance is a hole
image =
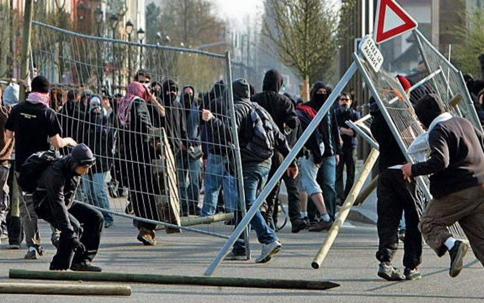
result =
[[[202,162],[198,160],[179,159],[177,163],[178,188],[180,191],[180,203],[182,209],[197,205],[200,197],[198,186]],[[186,177],[188,176],[188,181]]]

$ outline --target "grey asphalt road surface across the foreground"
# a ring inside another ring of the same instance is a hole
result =
[[[214,227],[214,226],[213,226]],[[43,239],[49,239],[50,229],[41,223]],[[205,225],[203,228],[211,228]],[[281,289],[249,289],[199,286],[131,284],[130,297],[6,295],[0,302],[472,302],[483,301],[482,266],[472,252],[466,268],[456,278],[448,275],[448,256],[437,258],[425,247],[421,272],[423,278],[414,282],[389,283],[376,275],[375,259],[378,238],[376,227],[351,222],[337,237],[327,259],[319,270],[311,268],[314,254],[326,234],[302,231],[291,234],[286,226],[279,237],[281,252],[265,265],[255,264],[260,252],[255,234],[251,234],[253,258],[248,262],[223,262],[214,276],[285,278],[331,281],[338,288],[326,291]],[[181,235],[158,232],[158,245],[143,247],[136,241],[136,230],[127,219],[116,218],[115,227],[103,235],[101,251],[95,263],[105,272],[201,275],[217,251],[222,239],[183,232]],[[40,260],[23,260],[25,249],[8,250],[0,245],[0,283],[33,282],[8,279],[8,270],[46,270],[55,250],[45,244],[47,255]],[[402,252],[394,264],[401,266]],[[43,281],[42,283],[45,283]],[[53,282],[59,283],[59,282]],[[62,283],[62,282],[60,282]],[[72,283],[72,282],[68,282]],[[126,283],[120,283],[125,285]]]

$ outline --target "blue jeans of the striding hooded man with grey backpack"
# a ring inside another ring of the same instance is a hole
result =
[[[267,181],[267,176],[269,175],[269,170],[269,168],[263,166],[249,166],[242,169],[247,209],[249,209],[257,199],[258,191],[264,187],[265,181]],[[239,219],[238,221],[240,221],[240,216],[237,217]],[[259,243],[269,244],[278,240],[276,232],[265,224],[265,220],[258,210],[255,213],[255,216],[252,217],[252,220],[250,220],[250,226],[255,229]],[[239,239],[244,239],[244,233],[240,235]],[[234,254],[244,254],[244,243],[235,242],[232,252]]]

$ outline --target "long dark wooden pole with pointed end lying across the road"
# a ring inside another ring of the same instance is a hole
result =
[[[311,290],[325,290],[340,286],[336,283],[328,281],[181,276],[114,272],[38,271],[20,269],[10,269],[9,278]]]

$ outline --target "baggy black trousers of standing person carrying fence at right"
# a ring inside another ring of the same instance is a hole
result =
[[[377,187],[379,245],[376,252],[376,259],[380,262],[391,262],[397,252],[398,225],[405,211],[403,266],[416,268],[422,263],[422,235],[418,229],[422,197],[415,183],[404,180],[400,170],[380,171]]]

